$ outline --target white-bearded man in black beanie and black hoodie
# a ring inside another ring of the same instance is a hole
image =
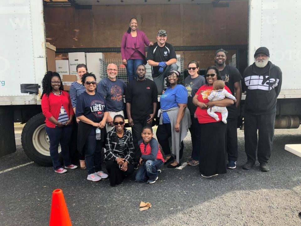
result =
[[[256,148],[260,170],[264,172],[270,170],[267,162],[271,156],[282,72],[269,61],[269,57],[270,53],[266,47],[258,48],[254,54],[255,62],[246,68],[243,75],[247,87],[244,132],[248,161],[243,166],[246,170],[250,170],[255,165]]]

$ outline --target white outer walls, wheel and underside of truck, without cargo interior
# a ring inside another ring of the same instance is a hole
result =
[[[217,5],[219,1],[211,2]],[[102,0],[100,3],[110,4],[111,1]],[[301,59],[301,21],[298,13],[301,12],[301,3],[294,0],[249,0],[248,3],[248,57],[245,65],[254,62],[254,52],[258,47],[269,48],[270,61],[283,72],[275,127],[298,128],[301,116],[301,70],[298,65]],[[47,71],[43,1],[1,1],[0,17],[0,156],[16,150],[14,122],[22,122],[26,123],[21,137],[25,153],[38,164],[51,165],[49,137],[40,107],[41,81]],[[242,101],[241,112],[243,105]]]

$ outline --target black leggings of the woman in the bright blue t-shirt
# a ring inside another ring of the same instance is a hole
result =
[[[174,128],[173,128],[174,129]],[[168,138],[172,137],[172,125],[170,123],[163,123],[158,126],[156,136],[159,144],[162,147],[162,150],[165,156],[171,155]],[[182,159],[183,156],[184,143],[181,142],[180,156],[179,159]]]

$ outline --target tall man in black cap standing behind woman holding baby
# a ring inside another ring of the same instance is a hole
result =
[[[226,150],[228,156],[228,169],[236,168],[238,157],[237,145],[237,116],[238,107],[241,100],[241,75],[236,67],[226,65],[227,51],[219,49],[215,51],[214,61],[215,66],[219,69],[220,76],[225,82],[225,85],[230,89],[233,96],[236,98],[236,103],[227,107],[227,130],[226,130]]]

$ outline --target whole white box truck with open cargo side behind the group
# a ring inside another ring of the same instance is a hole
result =
[[[64,66],[55,68],[55,60],[69,60],[69,53],[74,52],[102,53],[103,61],[121,59],[120,42],[132,17],[138,19],[139,29],[150,41],[156,41],[158,30],[167,31],[167,42],[182,59],[183,76],[191,60],[197,60],[202,71],[213,65],[214,52],[220,48],[229,52],[226,64],[231,59],[230,63],[243,73],[254,62],[255,50],[266,46],[270,61],[283,72],[276,128],[300,125],[298,1],[29,0],[2,1],[0,8],[3,34],[7,34],[0,36],[0,156],[15,151],[13,122],[22,122],[26,123],[22,132],[24,151],[36,163],[51,164],[40,107],[45,72],[62,68],[62,73],[71,74]],[[97,79],[105,76],[99,74]],[[242,119],[244,99],[243,94]]]

